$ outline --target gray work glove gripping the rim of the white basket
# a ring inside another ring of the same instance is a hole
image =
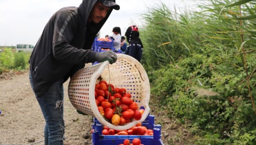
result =
[[[110,64],[113,64],[114,62],[117,61],[117,55],[112,50],[108,50],[105,52],[96,53],[95,59],[98,62],[103,62],[108,60]]]

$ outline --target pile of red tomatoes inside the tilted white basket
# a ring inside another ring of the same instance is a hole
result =
[[[131,99],[125,88],[114,87],[106,81],[95,85],[95,101],[100,114],[113,125],[125,125],[133,119],[139,120],[144,109]]]

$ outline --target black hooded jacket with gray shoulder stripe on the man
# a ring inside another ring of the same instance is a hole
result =
[[[95,61],[96,52],[90,50],[92,43],[113,10],[99,23],[89,23],[89,14],[96,2],[83,0],[79,7],[62,8],[47,22],[29,59],[37,98],[56,81],[63,78],[65,82],[85,63]]]

